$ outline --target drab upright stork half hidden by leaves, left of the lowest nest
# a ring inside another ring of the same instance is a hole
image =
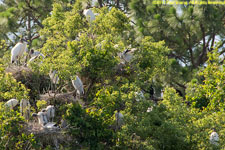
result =
[[[20,101],[20,113],[26,120],[30,117],[30,102],[29,100],[22,99]]]

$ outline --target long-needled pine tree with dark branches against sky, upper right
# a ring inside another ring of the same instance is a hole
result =
[[[207,54],[215,49],[217,36],[220,37],[218,47],[224,45],[223,5],[177,7],[153,4],[152,0],[131,0],[130,9],[136,23],[134,38],[151,36],[156,42],[164,41],[170,49],[167,56],[176,60],[177,65],[168,67],[164,84],[180,91],[185,90],[185,84],[207,61]]]

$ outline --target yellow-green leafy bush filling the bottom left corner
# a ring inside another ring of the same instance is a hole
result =
[[[4,108],[0,103],[0,149],[38,148],[33,134],[24,132],[23,117],[16,111]]]

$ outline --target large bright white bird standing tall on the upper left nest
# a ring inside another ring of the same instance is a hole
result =
[[[11,63],[17,61],[25,52],[27,47],[27,42],[24,39],[21,39],[11,50]]]

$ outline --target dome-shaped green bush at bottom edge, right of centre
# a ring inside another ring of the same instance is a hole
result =
[[[135,113],[126,113],[126,124],[118,133],[119,149],[187,149],[185,133],[170,120],[165,105],[154,106],[146,100],[135,105]],[[146,112],[148,107],[151,112]]]

